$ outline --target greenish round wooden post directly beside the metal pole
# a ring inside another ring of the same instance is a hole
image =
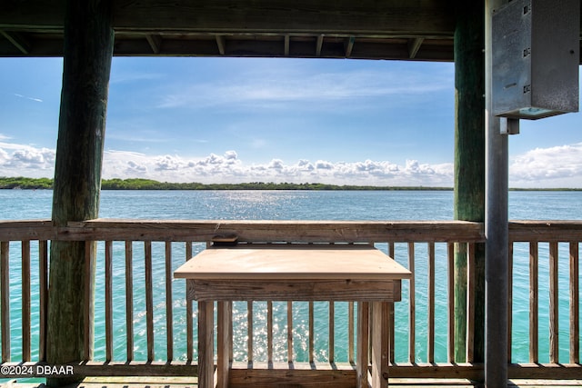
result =
[[[455,219],[485,221],[485,2],[457,0],[455,27]],[[475,343],[467,344],[467,244],[455,252],[455,361],[484,357],[485,244],[476,245]],[[472,323],[473,324],[473,323]]]

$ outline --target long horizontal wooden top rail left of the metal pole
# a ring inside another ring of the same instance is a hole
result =
[[[581,229],[582,232],[582,229]],[[111,220],[0,221],[0,241],[211,241],[236,234],[239,241],[303,243],[483,242],[482,223],[467,221],[186,221]]]

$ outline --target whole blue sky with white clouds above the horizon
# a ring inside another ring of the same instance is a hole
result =
[[[0,59],[0,176],[53,177],[61,58]],[[115,57],[104,178],[452,186],[454,65]],[[510,185],[582,187],[581,114],[522,121]]]

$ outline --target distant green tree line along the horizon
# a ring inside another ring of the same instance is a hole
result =
[[[52,189],[49,178],[0,177],[0,189]],[[452,190],[450,187],[424,186],[372,186],[352,184],[292,184],[274,182],[250,182],[245,184],[176,184],[157,182],[152,179],[104,179],[102,190]]]

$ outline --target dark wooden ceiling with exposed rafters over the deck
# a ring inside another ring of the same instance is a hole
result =
[[[455,0],[114,0],[114,55],[452,61]],[[0,1],[0,56],[62,56],[65,0]]]

